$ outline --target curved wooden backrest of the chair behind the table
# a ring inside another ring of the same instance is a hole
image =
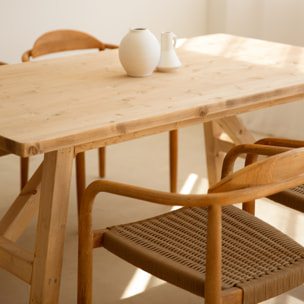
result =
[[[84,49],[99,49],[100,51],[109,48],[114,49],[118,46],[106,44],[95,37],[80,31],[74,30],[56,30],[40,36],[31,50],[26,51],[22,55],[22,61],[30,61],[30,57],[39,56]]]

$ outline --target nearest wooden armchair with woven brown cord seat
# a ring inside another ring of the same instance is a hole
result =
[[[271,156],[232,173],[235,157],[243,153]],[[304,248],[232,205],[302,184],[304,148],[237,146],[223,170],[226,177],[201,195],[91,183],[80,206],[78,304],[92,301],[92,251],[97,247],[204,297],[206,304],[255,304],[303,284]],[[93,230],[92,208],[100,192],[184,207]]]

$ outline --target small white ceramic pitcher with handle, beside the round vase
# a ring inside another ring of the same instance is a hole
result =
[[[181,66],[175,53],[176,35],[172,32],[161,34],[161,52],[157,69],[161,72],[170,72]]]

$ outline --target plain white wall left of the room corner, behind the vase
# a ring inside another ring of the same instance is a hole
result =
[[[205,33],[205,0],[9,0],[1,2],[0,61],[20,62],[42,33],[86,31],[119,43],[130,27],[148,27],[179,37]]]

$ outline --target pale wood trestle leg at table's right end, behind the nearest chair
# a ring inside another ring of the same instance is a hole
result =
[[[204,133],[209,186],[212,186],[221,178],[225,152],[235,144],[254,143],[255,138],[236,116],[206,122]]]

